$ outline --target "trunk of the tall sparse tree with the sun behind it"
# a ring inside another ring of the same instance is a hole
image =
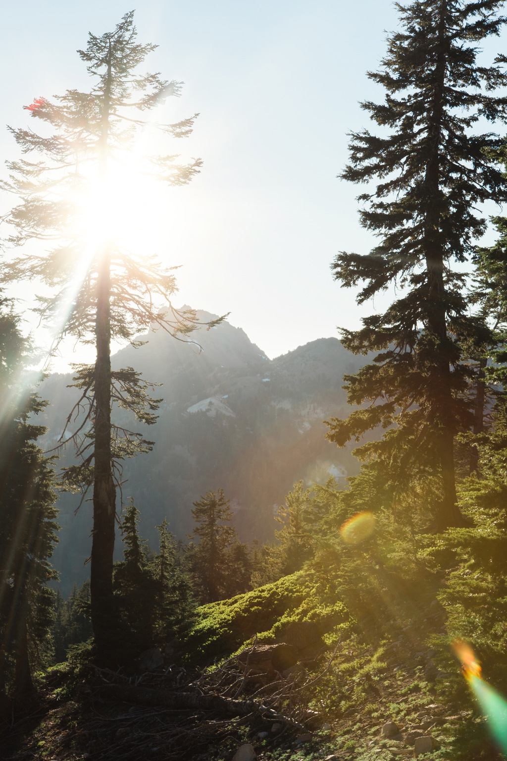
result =
[[[104,91],[99,139],[99,177],[107,177],[107,140],[111,97],[111,51]],[[93,637],[100,658],[107,658],[112,629],[112,556],[115,546],[116,488],[111,454],[111,263],[109,241],[102,243],[97,269],[95,336],[95,448],[93,473],[93,540],[90,598]]]

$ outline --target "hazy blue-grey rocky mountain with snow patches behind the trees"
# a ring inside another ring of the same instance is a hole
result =
[[[214,317],[198,316],[202,321]],[[120,425],[155,441],[153,452],[125,461],[124,500],[133,496],[141,511],[141,533],[154,548],[154,527],[164,516],[184,537],[192,529],[192,502],[220,487],[231,499],[242,540],[271,539],[274,509],[296,480],[324,482],[332,476],[344,482],[356,472],[353,447],[339,450],[325,441],[322,421],[347,415],[343,375],[365,359],[327,338],[270,360],[227,322],[194,337],[201,352],[196,343],[175,341],[159,330],[143,336],[146,345],[128,346],[112,357],[113,369],[130,366],[163,384],[154,387],[153,396],[163,396],[156,425],[143,428],[122,410],[116,413]],[[49,427],[48,448],[78,398],[78,390],[67,388],[70,382],[71,376],[55,374],[40,388],[52,403],[40,421]],[[69,448],[64,464],[72,457]],[[54,561],[62,572],[63,594],[87,577],[83,563],[90,555],[91,508],[85,502],[74,516],[77,505],[70,495],[59,500],[62,532]]]

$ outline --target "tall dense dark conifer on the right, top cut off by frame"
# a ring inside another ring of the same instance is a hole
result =
[[[328,438],[338,446],[360,440],[379,425],[382,441],[356,450],[392,473],[395,489],[414,478],[439,476],[435,508],[440,530],[460,526],[456,504],[454,439],[473,424],[466,365],[458,334],[470,334],[461,263],[485,230],[477,205],[504,202],[507,183],[491,151],[499,138],[472,132],[481,117],[501,118],[507,84],[495,65],[477,63],[480,43],[499,33],[503,2],[417,0],[397,5],[401,30],[391,34],[380,72],[369,78],[385,88],[385,102],[363,103],[382,135],[352,134],[350,164],[341,175],[353,183],[379,179],[359,199],[363,227],[380,237],[366,256],[341,253],[335,279],[364,282],[358,303],[397,285],[401,298],[383,314],[343,330],[354,353],[379,352],[356,375],[346,375],[348,400],[364,405],[348,419],[332,419]],[[468,325],[465,330],[465,323]]]

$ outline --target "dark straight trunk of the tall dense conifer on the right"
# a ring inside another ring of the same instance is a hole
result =
[[[424,247],[426,253],[426,275],[428,287],[426,327],[434,344],[436,356],[429,371],[429,414],[433,427],[432,444],[440,463],[442,479],[442,501],[436,516],[437,527],[445,530],[452,526],[463,526],[464,519],[458,508],[455,483],[452,377],[448,358],[447,315],[444,284],[444,250],[439,240],[441,227],[440,207],[440,146],[442,142],[443,95],[445,84],[445,11],[446,2],[440,4],[439,38],[440,49],[434,71],[432,113],[429,118],[428,141],[429,160],[426,164],[424,186],[426,198]]]

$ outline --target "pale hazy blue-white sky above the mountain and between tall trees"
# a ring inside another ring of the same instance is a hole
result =
[[[33,97],[89,87],[75,50],[129,10],[118,0],[5,4],[2,122],[28,124],[22,106]],[[201,174],[161,192],[146,219],[160,256],[182,265],[176,301],[230,311],[270,357],[357,326],[353,293],[329,265],[339,250],[366,253],[371,239],[357,215],[360,189],[336,175],[347,132],[369,125],[358,101],[382,97],[366,71],[397,23],[393,4],[140,0],[135,23],[140,42],[160,45],[147,68],[185,82],[171,119],[201,114],[176,145],[204,160]],[[17,156],[8,132],[0,143]]]

